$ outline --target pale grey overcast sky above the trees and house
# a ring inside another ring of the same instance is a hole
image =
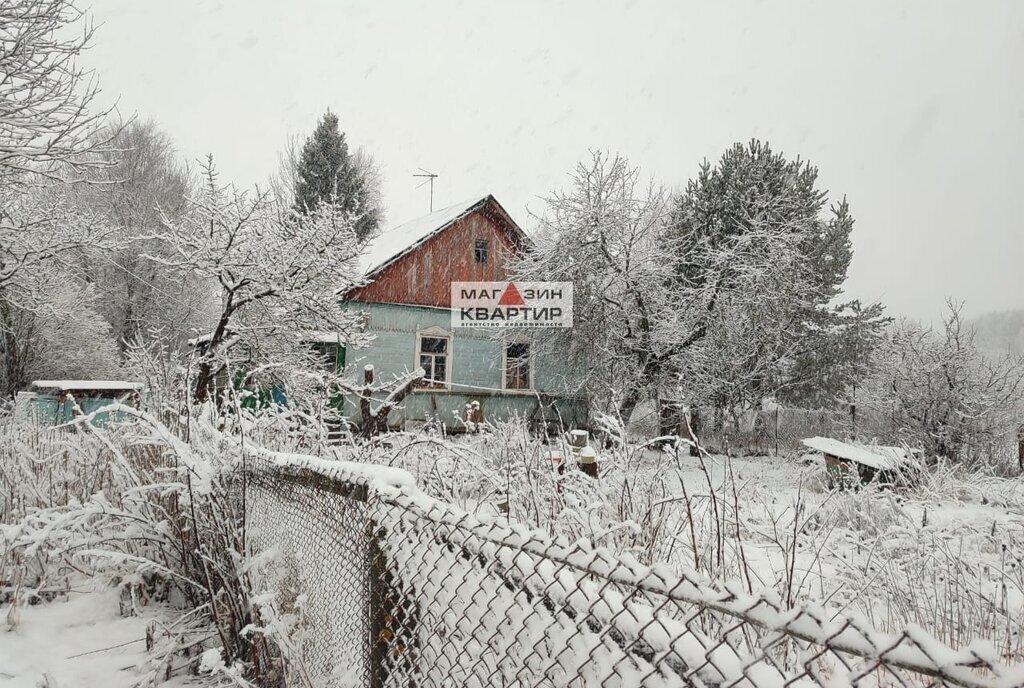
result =
[[[520,224],[589,148],[670,187],[734,141],[816,164],[847,290],[933,318],[1024,307],[1024,2],[92,0],[124,114],[263,183],[330,107],[389,222],[490,192]]]

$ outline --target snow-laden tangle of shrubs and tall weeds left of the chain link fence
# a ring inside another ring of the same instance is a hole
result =
[[[71,569],[108,579],[122,589],[127,612],[150,600],[179,608],[150,639],[154,681],[195,669],[212,648],[223,666],[207,677],[210,685],[256,677],[283,685],[289,662],[279,634],[289,621],[264,617],[253,583],[267,558],[248,556],[242,443],[217,429],[208,407],[188,419],[187,441],[150,415],[120,411],[135,421],[115,430],[83,421],[40,430],[43,440],[7,433],[5,455],[19,457],[19,474],[7,468],[5,481],[20,492],[5,507],[7,561],[37,587]],[[66,451],[53,454],[57,447]],[[52,481],[39,479],[51,471]]]

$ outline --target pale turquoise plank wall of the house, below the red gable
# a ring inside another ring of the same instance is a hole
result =
[[[344,307],[364,312],[367,330],[374,336],[369,346],[347,352],[349,375],[355,379],[361,379],[367,364],[374,365],[378,382],[414,370],[419,364],[417,332],[433,327],[452,335],[451,388],[416,390],[406,397],[404,408],[391,413],[388,422],[392,426],[433,418],[451,429],[458,429],[460,424],[456,416],[464,418],[466,404],[472,400],[481,404],[484,418],[492,422],[514,416],[535,420],[560,417],[567,428],[587,425],[586,399],[571,392],[567,369],[550,352],[535,347],[532,390],[505,390],[502,367],[505,342],[501,333],[466,328],[453,330],[451,313],[442,308],[364,302],[348,302]],[[526,330],[515,332],[529,336]],[[541,408],[544,408],[543,416],[539,415]],[[346,404],[346,412],[350,420],[358,420],[358,408],[351,400]]]

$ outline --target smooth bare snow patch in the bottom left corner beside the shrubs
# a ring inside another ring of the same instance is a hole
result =
[[[13,628],[9,611],[0,606],[3,688],[129,688],[146,658],[146,625],[159,613],[121,616],[116,590],[87,584],[66,599],[19,607]]]

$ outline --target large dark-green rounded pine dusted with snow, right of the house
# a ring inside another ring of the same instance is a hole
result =
[[[885,319],[878,304],[837,303],[853,217],[845,199],[825,215],[817,174],[754,140],[706,161],[675,201],[673,280],[696,296],[678,371],[700,401],[827,403],[863,374]]]

